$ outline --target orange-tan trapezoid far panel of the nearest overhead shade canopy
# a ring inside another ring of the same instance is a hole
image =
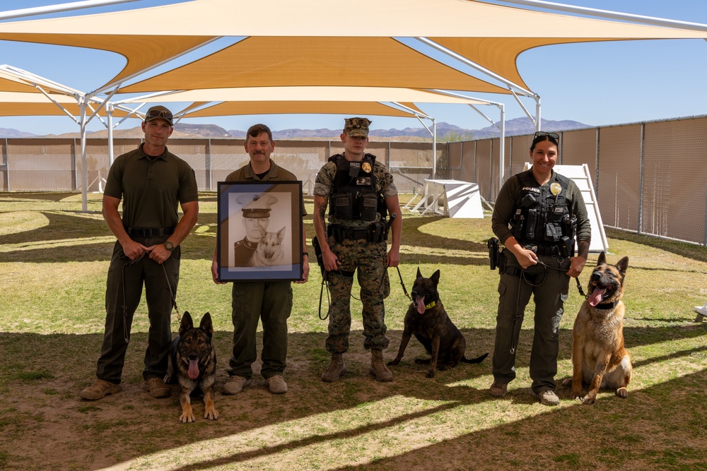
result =
[[[390,37],[248,37],[119,93],[285,85],[508,90],[441,64]]]

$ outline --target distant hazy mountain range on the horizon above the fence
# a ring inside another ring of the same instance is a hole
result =
[[[498,123],[497,123],[498,124]],[[571,131],[572,129],[585,129],[592,127],[578,121],[563,120],[552,121],[542,119],[542,129],[544,131]],[[520,136],[532,134],[535,126],[527,118],[515,118],[506,121],[506,136]],[[322,139],[338,140],[341,134],[340,129],[282,129],[273,131],[274,139],[281,140],[301,140],[301,139]],[[487,126],[482,129],[463,129],[454,124],[441,122],[437,124],[438,141],[467,141],[470,139],[486,139],[498,137],[500,131],[496,126]],[[89,132],[89,138],[107,138],[107,131]],[[113,131],[115,138],[141,138],[144,133],[140,126],[132,129],[116,129]],[[59,136],[47,134],[40,136],[33,133],[18,131],[17,129],[0,128],[0,138],[78,138],[76,133],[64,133]],[[245,138],[245,131],[237,129],[226,130],[216,124],[182,124],[175,125],[173,138]],[[430,133],[425,128],[404,128],[404,129],[371,129],[369,137],[373,141],[426,141],[430,140]]]

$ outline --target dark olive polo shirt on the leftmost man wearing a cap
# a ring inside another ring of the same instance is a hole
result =
[[[167,148],[148,157],[142,146],[116,157],[103,194],[122,199],[127,227],[175,227],[177,206],[199,200],[194,170]]]

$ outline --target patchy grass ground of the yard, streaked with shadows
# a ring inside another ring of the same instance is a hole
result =
[[[405,202],[409,196],[403,196]],[[559,388],[559,407],[530,393],[527,365],[532,303],[520,338],[518,378],[503,399],[486,391],[490,358],[425,377],[411,340],[395,380],[368,376],[360,303],[349,374],[322,383],[327,322],[317,315],[321,277],[293,285],[285,395],[259,376],[235,396],[221,395],[230,357],[230,286],[211,281],[216,195],[202,193],[199,223],[182,244],[177,304],[214,318],[218,421],[180,424],[177,395],[150,398],[141,371],[148,321],[135,315],[122,393],[83,402],[95,378],[105,318],[105,276],[114,237],[100,196],[81,213],[74,193],[0,193],[0,469],[16,470],[706,470],[707,323],[693,306],[707,299],[707,249],[609,231],[609,262],[629,256],[626,347],[634,366],[629,398],[602,391],[580,405]],[[308,212],[312,200],[305,198]],[[491,221],[404,215],[400,272],[411,289],[419,267],[441,270],[440,292],[467,338],[467,356],[493,350],[498,273],[489,270]],[[305,220],[309,237],[311,216]],[[310,249],[310,252],[312,250]],[[583,286],[597,254],[580,276]],[[390,348],[397,352],[409,303],[389,269]],[[571,375],[571,328],[583,299],[575,287],[560,333],[558,379]],[[325,297],[323,310],[326,311]],[[173,330],[177,330],[173,316]]]

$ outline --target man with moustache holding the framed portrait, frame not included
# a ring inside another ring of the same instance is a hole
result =
[[[270,129],[264,124],[250,126],[245,134],[245,152],[250,162],[244,167],[231,172],[226,181],[296,181],[292,172],[277,165],[270,154],[275,150]],[[306,215],[304,204],[301,214]],[[307,254],[307,235],[302,225],[302,280],[309,276],[309,256]],[[214,249],[211,263],[211,277],[218,280],[218,250]],[[273,394],[287,392],[283,372],[287,357],[287,319],[292,311],[292,285],[289,281],[238,281],[233,283],[232,291],[233,320],[233,357],[228,364],[228,381],[223,385],[224,394],[235,394],[250,384],[253,376],[252,364],[257,357],[255,332],[258,321],[263,324],[262,368],[260,374],[265,378],[268,389]]]

